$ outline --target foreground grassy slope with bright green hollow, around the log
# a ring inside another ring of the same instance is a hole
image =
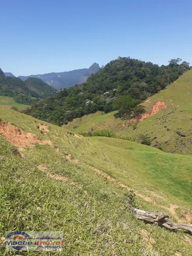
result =
[[[190,222],[192,156],[113,138],[83,138],[1,106],[0,118],[1,237],[7,230],[60,230],[63,255],[192,255],[188,234],[136,220],[122,186],[135,191],[140,209]],[[33,136],[34,141],[42,145],[24,146],[32,138],[24,132],[36,134],[41,141]],[[3,243],[0,248],[4,251]]]

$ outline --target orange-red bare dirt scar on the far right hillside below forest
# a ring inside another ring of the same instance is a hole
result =
[[[144,103],[143,103],[144,104]],[[150,116],[153,116],[154,114],[156,114],[158,111],[162,110],[162,109],[165,109],[167,107],[167,105],[165,104],[165,102],[161,102],[160,100],[158,102],[155,103],[155,105],[153,106],[152,110],[150,113],[144,113],[144,114],[141,114],[141,116],[139,116],[138,118],[133,118],[133,119],[130,119],[128,121],[126,121],[125,123],[120,123],[118,124],[118,127],[123,127],[125,126],[127,123],[129,122],[141,122],[143,121],[144,119],[150,117]]]

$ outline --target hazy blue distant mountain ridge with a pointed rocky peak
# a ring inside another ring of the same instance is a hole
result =
[[[47,73],[47,74],[37,74],[31,76],[18,76],[21,80],[26,80],[29,77],[40,78],[48,85],[51,85],[57,90],[62,88],[72,87],[76,84],[81,84],[87,81],[87,78],[91,74],[95,74],[100,70],[100,66],[96,63],[92,64],[89,69],[75,69],[68,72],[59,73]]]

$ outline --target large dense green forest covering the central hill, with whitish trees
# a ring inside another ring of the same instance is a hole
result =
[[[57,125],[98,110],[107,113],[118,109],[116,117],[121,118],[137,116],[144,111],[137,107],[139,102],[165,89],[191,68],[180,58],[168,63],[159,66],[119,57],[92,74],[86,83],[62,89],[55,96],[35,103],[25,113]]]

